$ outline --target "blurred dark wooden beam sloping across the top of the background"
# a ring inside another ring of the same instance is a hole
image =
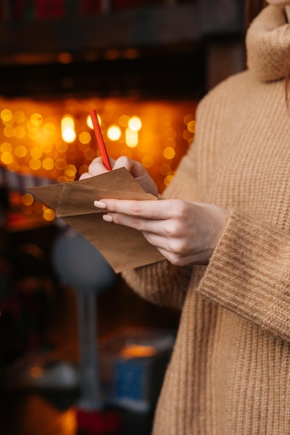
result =
[[[34,59],[42,63],[49,61],[49,55],[62,52],[167,46],[197,42],[208,35],[240,33],[243,4],[244,0],[195,0],[102,15],[4,22],[0,62],[32,63]]]

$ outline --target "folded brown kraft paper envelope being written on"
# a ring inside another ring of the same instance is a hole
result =
[[[156,199],[146,193],[125,168],[72,183],[29,190],[53,208],[57,217],[86,237],[116,273],[164,259],[140,231],[105,222],[104,210],[94,206],[94,201],[102,198]]]

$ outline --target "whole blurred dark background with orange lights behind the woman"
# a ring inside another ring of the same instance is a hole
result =
[[[162,192],[245,28],[245,0],[0,0],[1,435],[150,434],[179,313],[26,189],[88,170],[95,108]]]

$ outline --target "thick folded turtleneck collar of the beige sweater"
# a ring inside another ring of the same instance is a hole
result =
[[[268,5],[254,19],[245,38],[247,64],[260,81],[284,79],[290,24],[279,6]]]

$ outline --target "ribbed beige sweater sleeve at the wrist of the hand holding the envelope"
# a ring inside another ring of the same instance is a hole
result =
[[[290,235],[233,209],[198,291],[290,340]]]

